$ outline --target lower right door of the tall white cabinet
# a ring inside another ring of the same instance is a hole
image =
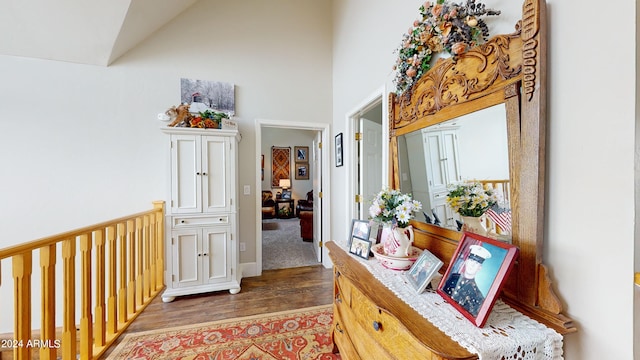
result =
[[[216,226],[203,232],[203,281],[211,284],[231,280],[231,229]]]

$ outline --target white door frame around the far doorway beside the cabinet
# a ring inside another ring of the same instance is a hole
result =
[[[322,265],[329,268],[331,267],[331,262],[329,260],[329,256],[327,254],[326,248],[324,244],[329,241],[329,229],[331,228],[330,218],[329,218],[329,206],[322,206],[323,204],[330,204],[331,202],[331,191],[330,191],[330,172],[329,172],[329,154],[330,151],[327,148],[329,144],[331,144],[329,140],[330,135],[330,124],[325,123],[310,123],[310,122],[299,122],[299,121],[286,121],[286,120],[270,120],[270,119],[256,119],[255,120],[255,131],[256,131],[256,140],[255,140],[255,169],[256,169],[256,178],[255,178],[255,219],[256,219],[256,276],[262,275],[262,196],[261,192],[258,189],[262,189],[262,180],[260,174],[260,163],[261,163],[261,155],[262,155],[262,128],[280,128],[280,129],[290,129],[290,130],[311,130],[320,132],[320,136],[322,139],[322,152],[321,152],[321,166],[322,166],[322,177],[321,177],[321,188],[322,188],[322,198],[321,200],[321,239],[323,246],[319,251],[322,251]],[[314,174],[313,176],[318,176],[318,174]],[[315,193],[319,192],[319,189],[313,189]],[[315,197],[315,196],[314,196]]]

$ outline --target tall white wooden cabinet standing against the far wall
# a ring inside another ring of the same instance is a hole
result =
[[[170,164],[166,229],[167,289],[162,300],[240,291],[235,130],[165,128]]]

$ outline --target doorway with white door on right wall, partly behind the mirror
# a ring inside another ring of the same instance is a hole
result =
[[[368,218],[371,199],[388,179],[387,162],[384,154],[388,154],[388,131],[386,130],[386,106],[384,106],[384,87],[378,89],[349,115],[351,129],[351,149],[353,150],[352,194],[354,205],[353,217],[360,220]]]

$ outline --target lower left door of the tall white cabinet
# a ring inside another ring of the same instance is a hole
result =
[[[188,287],[202,283],[200,275],[202,259],[202,230],[173,231],[171,257],[173,287]]]

